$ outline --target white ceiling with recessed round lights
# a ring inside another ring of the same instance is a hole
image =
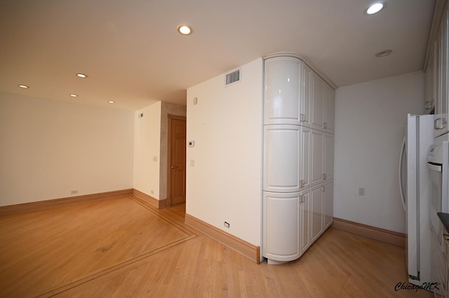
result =
[[[188,87],[272,52],[308,57],[338,87],[422,69],[435,0],[365,15],[373,1],[1,0],[0,92],[134,111],[185,104]]]

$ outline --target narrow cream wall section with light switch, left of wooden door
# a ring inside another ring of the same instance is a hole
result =
[[[160,148],[161,101],[158,101],[134,113],[134,188],[154,199],[159,199]]]

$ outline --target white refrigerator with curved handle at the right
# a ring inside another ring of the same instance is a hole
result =
[[[434,115],[408,114],[399,162],[399,181],[406,212],[408,282],[413,285],[432,282],[427,151],[433,142]]]

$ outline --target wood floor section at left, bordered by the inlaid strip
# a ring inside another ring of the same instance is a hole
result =
[[[0,294],[51,292],[190,236],[129,197],[6,215]]]

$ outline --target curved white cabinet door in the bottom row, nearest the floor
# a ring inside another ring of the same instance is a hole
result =
[[[300,193],[263,194],[262,254],[270,260],[291,261],[301,255]]]

